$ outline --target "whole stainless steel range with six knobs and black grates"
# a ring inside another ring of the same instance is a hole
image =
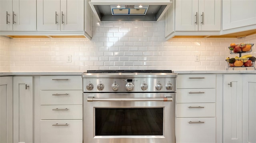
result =
[[[84,143],[175,143],[171,70],[82,74]]]

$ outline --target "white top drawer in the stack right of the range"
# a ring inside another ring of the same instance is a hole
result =
[[[178,74],[176,88],[215,88],[215,74]]]

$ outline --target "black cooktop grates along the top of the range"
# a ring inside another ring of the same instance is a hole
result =
[[[87,73],[172,73],[172,70],[88,70]]]

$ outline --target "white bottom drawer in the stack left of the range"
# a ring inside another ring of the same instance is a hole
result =
[[[82,120],[41,120],[40,126],[41,143],[82,143]]]

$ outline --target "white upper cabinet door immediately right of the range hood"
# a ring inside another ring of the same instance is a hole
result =
[[[176,0],[175,8],[175,31],[197,31],[198,0]]]

